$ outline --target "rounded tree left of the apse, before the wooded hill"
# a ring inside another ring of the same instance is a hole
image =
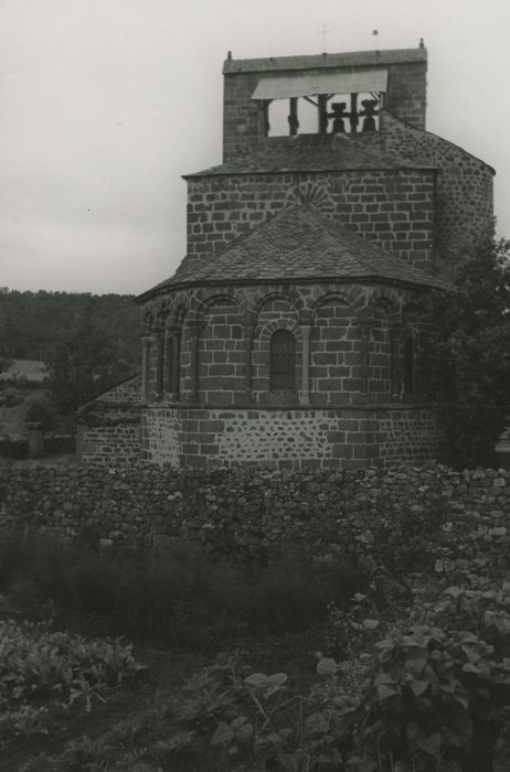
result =
[[[132,374],[132,365],[119,358],[108,326],[93,317],[92,305],[62,333],[46,364],[50,389],[63,410],[74,410]]]

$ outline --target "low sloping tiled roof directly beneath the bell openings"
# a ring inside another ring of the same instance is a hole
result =
[[[432,169],[412,159],[369,148],[363,135],[297,135],[272,137],[227,163],[211,167],[184,179],[222,174],[257,174],[272,172],[347,171],[350,169]]]

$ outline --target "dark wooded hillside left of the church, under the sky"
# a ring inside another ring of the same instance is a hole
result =
[[[134,297],[0,289],[0,371],[17,358],[44,362],[54,409],[74,410],[138,372]]]

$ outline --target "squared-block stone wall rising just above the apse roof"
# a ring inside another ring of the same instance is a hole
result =
[[[308,202],[366,240],[432,270],[434,171],[211,175],[188,182],[188,262],[206,258],[288,204]]]

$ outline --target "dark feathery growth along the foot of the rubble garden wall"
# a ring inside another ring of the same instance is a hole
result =
[[[362,589],[348,564],[230,566],[177,544],[160,555],[115,556],[42,537],[6,535],[0,591],[36,615],[50,600],[102,620],[109,634],[210,646],[233,634],[283,634],[326,620]]]

